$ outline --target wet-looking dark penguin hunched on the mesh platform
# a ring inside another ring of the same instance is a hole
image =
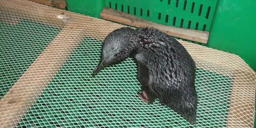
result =
[[[138,92],[142,101],[159,99],[189,123],[196,123],[196,66],[187,50],[175,38],[154,28],[123,27],[105,38],[102,59],[94,71],[133,55],[138,63]]]

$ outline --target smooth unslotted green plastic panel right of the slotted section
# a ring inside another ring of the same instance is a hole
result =
[[[239,55],[256,71],[256,0],[219,0],[207,47]]]

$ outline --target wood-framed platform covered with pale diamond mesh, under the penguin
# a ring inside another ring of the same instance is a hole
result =
[[[133,57],[92,76],[102,40],[120,27],[27,0],[0,0],[0,126],[253,127],[256,76],[236,55],[178,40],[197,65],[195,125],[159,100],[140,100]]]

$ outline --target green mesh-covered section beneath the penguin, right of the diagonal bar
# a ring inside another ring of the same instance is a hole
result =
[[[140,100],[141,85],[132,57],[92,76],[102,45],[84,38],[18,127],[225,127],[230,78],[197,69],[197,124],[191,126],[158,100],[154,104]]]

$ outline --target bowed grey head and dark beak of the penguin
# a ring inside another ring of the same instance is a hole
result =
[[[126,59],[135,49],[134,30],[129,27],[116,29],[105,38],[102,59],[94,71],[97,74],[104,66]]]

